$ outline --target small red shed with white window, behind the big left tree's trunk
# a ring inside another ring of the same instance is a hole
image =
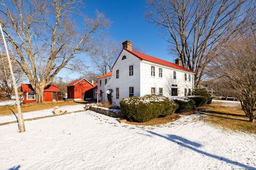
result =
[[[34,103],[36,101],[36,92],[31,84],[21,84],[23,92],[23,103]],[[58,101],[58,92],[60,89],[56,85],[49,84],[44,87],[44,101]]]

